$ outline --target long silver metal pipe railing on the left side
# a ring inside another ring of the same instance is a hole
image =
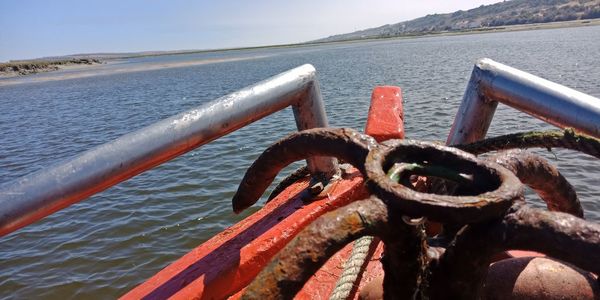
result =
[[[288,106],[299,130],[327,127],[315,68],[303,65],[0,186],[0,236]],[[333,158],[307,160],[329,176]]]

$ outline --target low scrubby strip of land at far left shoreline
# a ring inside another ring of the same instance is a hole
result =
[[[98,59],[62,59],[62,60],[24,60],[0,63],[0,76],[20,76],[40,72],[49,72],[69,65],[93,65],[100,64]]]

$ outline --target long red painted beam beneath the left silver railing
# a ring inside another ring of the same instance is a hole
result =
[[[304,204],[295,183],[241,222],[166,267],[123,299],[221,299],[248,285],[269,260],[320,215],[366,197],[358,171],[333,183],[328,194]],[[210,288],[208,288],[210,287]]]

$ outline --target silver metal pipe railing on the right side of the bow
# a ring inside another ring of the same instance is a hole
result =
[[[484,58],[473,68],[446,143],[483,139],[498,102],[560,128],[600,137],[600,99]]]

